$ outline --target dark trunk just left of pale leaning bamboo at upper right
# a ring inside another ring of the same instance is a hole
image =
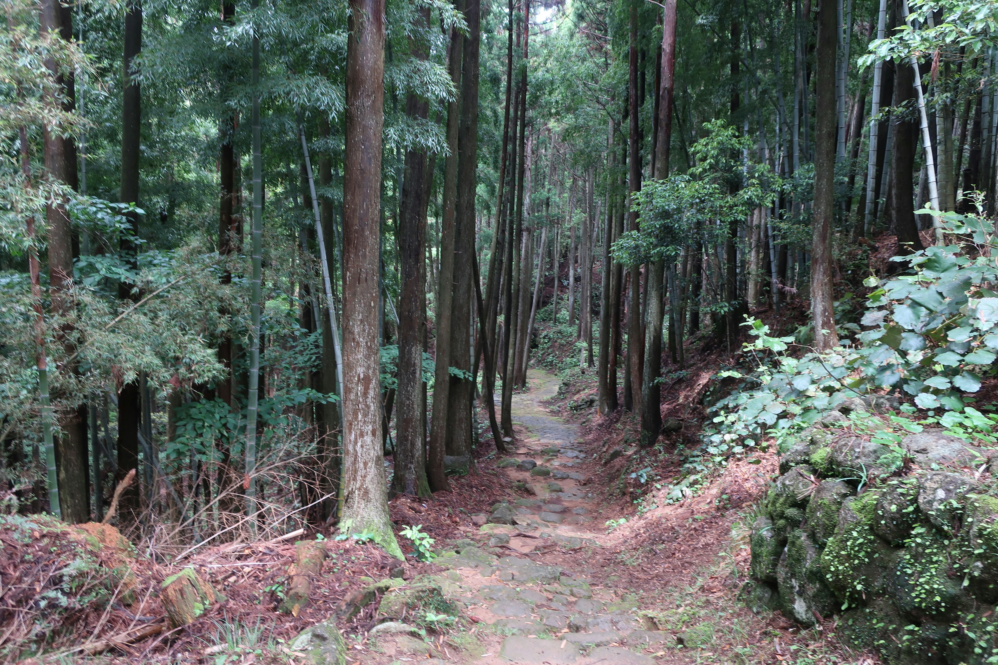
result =
[[[896,63],[894,76],[894,108],[909,103],[914,99],[912,84],[914,83],[914,71],[908,63]],[[894,232],[897,234],[898,250],[902,254],[909,254],[922,249],[922,242],[918,236],[918,222],[915,219],[914,209],[914,184],[912,182],[915,167],[915,152],[917,150],[918,126],[910,120],[906,114],[897,114],[894,117],[893,133],[894,146],[891,153],[893,158],[892,170],[894,187],[892,191],[892,207],[894,214]]]

